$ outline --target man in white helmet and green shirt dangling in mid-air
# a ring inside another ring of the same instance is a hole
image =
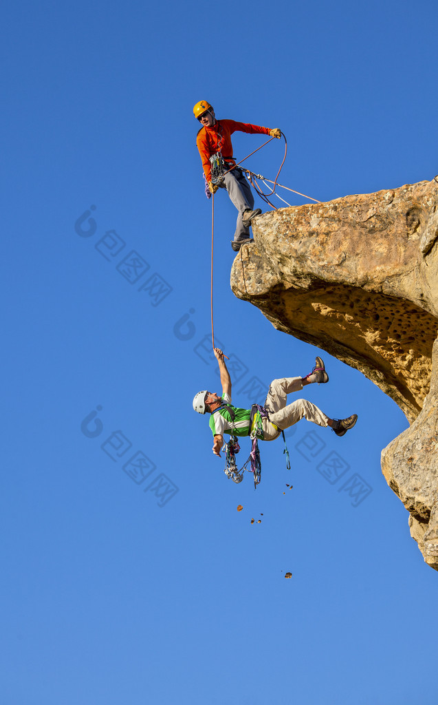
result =
[[[193,408],[199,414],[206,412],[211,414],[210,428],[214,438],[213,453],[220,457],[220,449],[224,443],[223,434],[249,436],[256,424],[256,413],[251,409],[239,409],[232,406],[231,377],[225,364],[223,352],[219,348],[214,348],[214,354],[219,365],[222,396],[206,390],[198,392],[193,400]],[[261,440],[274,441],[284,429],[293,426],[303,417],[318,426],[329,426],[337,436],[344,436],[346,431],[352,429],[356,424],[357,414],[346,419],[330,419],[315,404],[306,399],[297,399],[292,404],[287,404],[289,393],[299,391],[307,384],[315,382],[325,384],[328,381],[328,374],[325,372],[324,362],[320,357],[316,357],[315,367],[305,377],[274,379],[270,384],[265,401],[263,411],[266,415],[262,414],[261,417],[263,429]]]

